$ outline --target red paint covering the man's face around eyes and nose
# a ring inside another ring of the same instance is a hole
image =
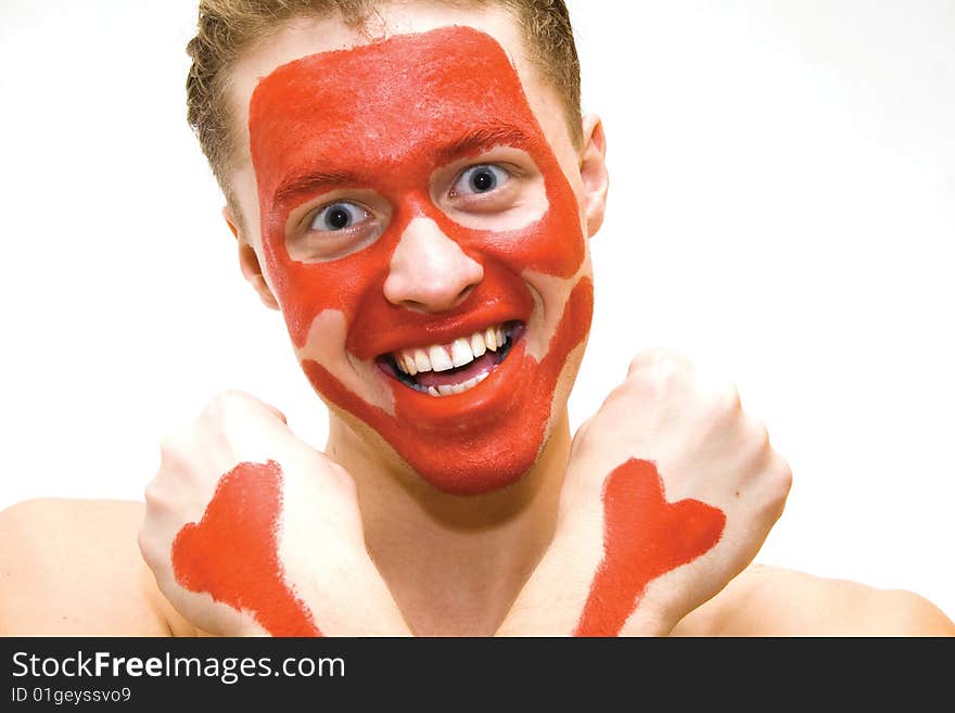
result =
[[[266,266],[300,349],[327,310],[341,313],[343,346],[366,362],[506,321],[529,324],[538,311],[562,315],[551,321],[558,328],[546,356],[538,360],[520,341],[489,378],[454,396],[422,394],[380,374],[375,389],[391,394],[372,404],[343,383],[341,369],[300,354],[326,400],[378,431],[437,488],[475,494],[519,479],[543,446],[561,369],[589,331],[593,290],[583,278],[568,284],[565,302],[537,305],[522,278],[525,270],[575,278],[585,242],[576,198],[501,47],[472,28],[447,27],[307,56],[262,80],[249,128]],[[435,204],[432,178],[500,144],[501,136],[533,160],[547,209],[520,229],[464,227]],[[290,214],[328,189],[289,188],[308,186],[316,174],[347,176],[347,188],[387,203],[391,217],[373,243],[330,262],[290,257]],[[483,280],[447,311],[413,311],[385,298],[392,255],[416,218],[432,220],[483,268]]]

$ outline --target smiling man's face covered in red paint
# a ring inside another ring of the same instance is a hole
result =
[[[566,128],[529,93],[560,104],[492,35],[418,29],[279,53],[250,92],[246,215],[316,391],[476,494],[525,473],[565,407],[590,268]]]

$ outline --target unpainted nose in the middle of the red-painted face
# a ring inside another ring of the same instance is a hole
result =
[[[444,311],[457,306],[483,278],[481,264],[468,257],[434,220],[415,218],[392,255],[384,296],[394,305]]]

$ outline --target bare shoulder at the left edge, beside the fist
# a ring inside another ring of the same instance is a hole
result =
[[[0,635],[193,633],[139,552],[144,507],[40,498],[0,511]]]

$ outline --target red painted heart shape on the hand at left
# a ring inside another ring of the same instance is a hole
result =
[[[281,509],[279,464],[240,463],[221,478],[202,520],[176,535],[173,572],[186,589],[251,612],[272,636],[321,636],[283,578]]]

